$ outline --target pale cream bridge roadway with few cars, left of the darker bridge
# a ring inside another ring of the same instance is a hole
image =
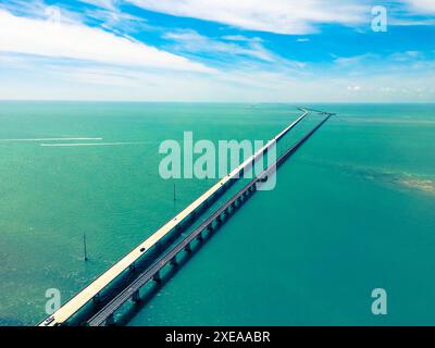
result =
[[[65,304],[63,304],[59,310],[57,310],[52,315],[48,316],[45,321],[38,324],[38,326],[57,326],[66,323],[74,314],[76,314],[85,304],[95,298],[98,298],[99,294],[107,288],[113,281],[120,277],[124,271],[128,270],[135,264],[142,256],[153,246],[156,246],[159,240],[164,238],[175,228],[179,227],[183,222],[188,220],[191,215],[195,215],[196,211],[211,201],[211,199],[221,190],[225,190],[229,183],[241,177],[245,170],[249,169],[252,163],[256,163],[262,158],[264,153],[268,152],[276,142],[278,142],[293,127],[295,127],[300,121],[302,121],[309,113],[308,110],[299,108],[302,111],[302,115],[299,116],[295,122],[284,128],[278,135],[276,135],[272,140],[270,140],[263,148],[258,150],[252,158],[248,158],[240,165],[235,167],[228,175],[219,181],[209,190],[185,208],[181,213],[178,213],[174,219],[164,224],[154,234],[148,237],[145,241],[139,244],[130,252],[128,252],[123,259],[117,261],[113,266],[103,272],[94,282],[91,282],[86,288],[75,295]]]

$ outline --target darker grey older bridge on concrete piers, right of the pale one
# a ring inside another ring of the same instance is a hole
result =
[[[241,188],[236,195],[234,195],[229,200],[227,200],[221,208],[219,208],[210,217],[202,222],[198,227],[194,229],[189,235],[183,238],[175,247],[167,251],[160,260],[156,261],[148,270],[140,274],[135,282],[133,282],[127,288],[121,291],[112,301],[110,301],[105,307],[103,307],[96,315],[94,315],[87,323],[89,326],[100,326],[102,324],[112,324],[114,319],[113,314],[129,299],[136,301],[139,300],[139,289],[145,286],[151,279],[160,281],[160,271],[167,264],[176,265],[177,256],[183,252],[190,252],[190,244],[195,239],[202,240],[204,231],[213,231],[213,223],[222,223],[222,214],[225,213],[229,216],[231,211],[236,210],[244,200],[249,198],[251,194],[257,190],[257,185],[262,181],[266,179],[271,172],[275,167],[282,165],[296,150],[306,142],[315,130],[318,130],[330,117],[331,114],[326,113],[327,116],[319,123],[312,130],[304,135],[296,145],[289,148],[284,154],[282,154],[275,163],[270,165],[265,171],[263,171],[259,176],[253,178],[249,184]],[[238,204],[238,206],[237,206]]]

